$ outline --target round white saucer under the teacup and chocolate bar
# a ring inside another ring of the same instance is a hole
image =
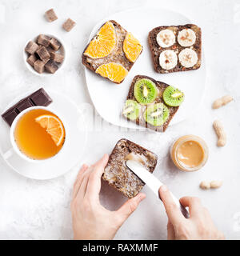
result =
[[[47,162],[27,162],[11,150],[10,127],[0,118],[0,154],[2,158],[4,158],[8,166],[18,174],[22,174],[27,178],[40,180],[57,178],[71,170],[81,161],[87,139],[86,124],[83,121],[84,117],[78,109],[78,106],[63,94],[45,88],[44,90],[46,90],[47,94],[53,99],[53,102],[50,104],[50,109],[58,111],[58,113],[61,114],[65,122],[64,126],[66,126],[68,130],[68,138],[66,138],[64,147],[61,150],[62,152],[60,151],[61,154],[57,154],[54,158],[47,160]],[[11,102],[10,105],[6,107],[6,110],[31,93],[33,93],[33,91],[22,94],[19,98],[16,98],[14,102]]]

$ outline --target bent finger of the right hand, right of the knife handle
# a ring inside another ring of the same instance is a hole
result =
[[[201,200],[199,198],[184,197],[180,199],[182,206],[189,208],[190,217],[205,214]]]

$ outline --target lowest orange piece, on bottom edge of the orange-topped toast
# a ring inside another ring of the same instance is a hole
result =
[[[101,74],[104,78],[109,78],[112,82],[122,82],[128,71],[124,66],[118,63],[110,62],[98,66],[96,73]]]

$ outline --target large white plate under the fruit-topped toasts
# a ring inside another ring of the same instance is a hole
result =
[[[99,27],[110,19],[114,19],[127,31],[132,32],[142,43],[143,51],[126,79],[120,85],[109,82],[105,78],[101,78],[97,74],[94,74],[94,72],[85,69],[86,84],[90,92],[90,98],[92,99],[98,114],[100,114],[107,122],[116,126],[142,129],[142,127],[137,126],[134,122],[127,122],[126,119],[121,116],[122,106],[126,101],[130,84],[137,74],[150,76],[155,80],[166,82],[167,84],[176,86],[184,91],[186,95],[185,101],[170,122],[170,125],[182,122],[184,119],[190,117],[191,114],[194,114],[198,109],[198,106],[200,106],[206,86],[204,54],[202,53],[202,66],[199,70],[176,72],[172,74],[158,74],[154,71],[147,42],[148,33],[150,30],[154,29],[154,27],[183,25],[191,23],[190,20],[186,18],[186,16],[171,10],[154,10],[146,8],[126,10],[118,14],[113,14],[99,22],[91,32],[90,39],[93,38]]]

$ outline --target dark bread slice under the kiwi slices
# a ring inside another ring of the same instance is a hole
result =
[[[142,78],[150,79],[151,81],[153,81],[155,83],[155,85],[158,88],[158,96],[154,100],[154,103],[162,102],[166,105],[166,103],[163,101],[162,94],[163,94],[164,90],[166,89],[166,87],[168,87],[169,85],[166,84],[165,82],[156,81],[153,78],[147,77],[146,75],[136,75],[134,77],[126,99],[127,100],[132,99],[137,102],[136,98],[134,97],[134,85],[138,80],[140,80]],[[176,114],[176,112],[178,111],[178,108],[179,108],[179,106],[168,106],[168,105],[166,105],[166,106],[168,107],[170,114],[169,114],[169,118],[166,120],[166,122],[163,124],[163,126],[152,126],[145,121],[145,119],[143,118],[143,114],[146,110],[146,105],[141,105],[139,117],[135,121],[131,121],[131,120],[129,120],[129,121],[135,122],[139,126],[144,126],[144,127],[150,128],[151,130],[155,130],[158,132],[164,132],[166,130],[167,126],[170,124],[170,121],[174,117],[174,114]],[[123,117],[126,118],[125,116],[123,116]]]

